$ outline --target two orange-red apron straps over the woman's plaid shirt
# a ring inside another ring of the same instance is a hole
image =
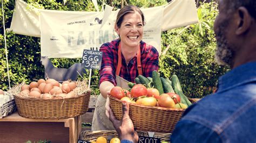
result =
[[[122,53],[121,53],[121,43],[118,45],[118,63],[117,63],[117,70],[116,74],[119,76],[120,70],[122,66]],[[140,46],[137,52],[137,70],[139,72],[139,75],[142,75],[142,62],[140,61]]]

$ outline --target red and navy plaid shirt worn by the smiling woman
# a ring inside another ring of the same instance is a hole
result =
[[[117,85],[116,69],[119,42],[120,39],[113,40],[110,43],[103,44],[99,49],[99,51],[103,52],[99,84],[103,81],[110,81],[114,86]],[[152,71],[158,70],[158,51],[155,47],[147,45],[143,41],[140,42],[140,49],[143,76],[152,77]],[[122,54],[122,66],[119,76],[134,83],[134,79],[138,77],[137,55],[126,65],[125,58]]]

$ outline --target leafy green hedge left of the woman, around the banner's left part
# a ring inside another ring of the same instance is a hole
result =
[[[32,6],[39,9],[51,9],[51,10],[70,10],[70,11],[96,11],[93,3],[90,0],[72,2],[68,1],[63,4],[63,2],[56,1],[25,1]],[[9,28],[11,24],[12,13],[14,12],[15,1],[5,1],[4,2],[4,15],[5,15],[5,28]],[[0,14],[1,22],[2,12]],[[5,57],[4,48],[4,31],[1,26],[0,29],[0,88],[3,90],[8,90],[8,72],[7,63]],[[41,64],[41,50],[40,50],[40,38],[16,35],[12,32],[6,32],[6,46],[8,49],[8,60],[9,60],[9,74],[11,86],[15,84],[30,83],[35,81],[35,79],[44,78],[44,66]],[[74,63],[80,63],[81,59],[51,59],[53,65],[59,68],[68,68]],[[95,94],[99,94],[98,90],[98,71],[92,71],[91,85]],[[86,76],[82,75],[85,79]]]

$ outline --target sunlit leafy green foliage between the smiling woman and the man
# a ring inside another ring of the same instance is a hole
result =
[[[217,13],[217,4],[201,4],[199,23],[162,34],[165,52],[160,57],[159,71],[164,77],[177,74],[186,96],[201,98],[211,94],[218,78],[228,71],[228,67],[214,62],[213,23]]]

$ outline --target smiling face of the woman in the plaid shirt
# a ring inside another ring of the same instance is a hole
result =
[[[124,16],[120,28],[116,26],[116,31],[123,47],[137,47],[143,36],[142,16],[138,12],[128,13]]]

